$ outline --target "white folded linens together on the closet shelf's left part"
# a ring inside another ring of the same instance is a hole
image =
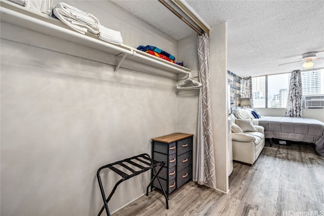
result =
[[[113,44],[122,44],[123,38],[119,31],[111,30],[100,25],[99,20],[92,14],[83,12],[66,3],[60,2],[53,9],[53,14],[66,25],[74,30],[85,34],[92,32],[98,34],[103,41]]]

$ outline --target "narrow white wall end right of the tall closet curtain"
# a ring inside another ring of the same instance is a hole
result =
[[[228,192],[228,122],[227,122],[227,31],[226,23],[210,31],[210,90],[214,133],[217,189]]]

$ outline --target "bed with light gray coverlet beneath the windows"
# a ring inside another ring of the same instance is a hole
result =
[[[264,116],[258,119],[266,138],[315,143],[324,157],[324,123],[316,119]]]

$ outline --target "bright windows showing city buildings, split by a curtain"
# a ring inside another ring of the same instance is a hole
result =
[[[254,107],[286,107],[291,73],[252,78]],[[302,71],[303,95],[324,94],[324,69]],[[266,101],[267,98],[267,101]]]

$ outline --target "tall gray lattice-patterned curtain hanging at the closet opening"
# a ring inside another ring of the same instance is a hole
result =
[[[203,86],[199,94],[196,181],[200,185],[206,184],[216,188],[208,40],[205,32],[198,36],[199,79]]]

